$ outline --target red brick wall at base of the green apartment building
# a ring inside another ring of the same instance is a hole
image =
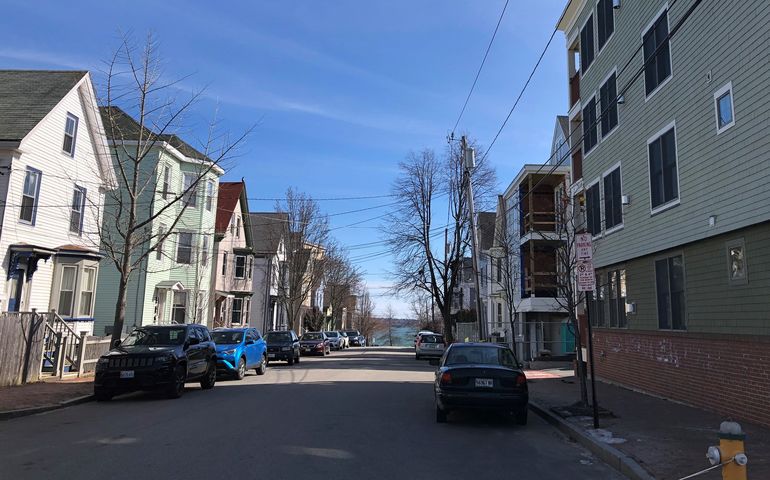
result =
[[[594,330],[596,375],[770,426],[770,336]]]

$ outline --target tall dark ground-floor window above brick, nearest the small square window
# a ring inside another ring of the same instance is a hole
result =
[[[658,328],[685,330],[684,262],[681,255],[655,261]]]

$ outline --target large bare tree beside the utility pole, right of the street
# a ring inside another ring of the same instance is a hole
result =
[[[496,176],[483,152],[479,148],[476,151],[479,161],[471,172],[471,181],[481,211],[496,186]],[[450,143],[439,159],[426,149],[409,154],[399,169],[392,187],[398,206],[383,228],[395,257],[393,289],[400,293],[427,292],[441,314],[444,335],[452,341],[452,297],[470,239],[463,152]],[[441,220],[446,218],[444,205],[448,224]]]

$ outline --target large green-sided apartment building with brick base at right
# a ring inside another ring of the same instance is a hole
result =
[[[597,374],[770,424],[770,4],[571,0],[558,28]]]

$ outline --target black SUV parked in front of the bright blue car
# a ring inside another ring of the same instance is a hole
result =
[[[98,401],[136,390],[160,390],[169,398],[184,393],[185,382],[214,387],[217,353],[202,325],[140,327],[102,355],[96,364],[94,396]]]

